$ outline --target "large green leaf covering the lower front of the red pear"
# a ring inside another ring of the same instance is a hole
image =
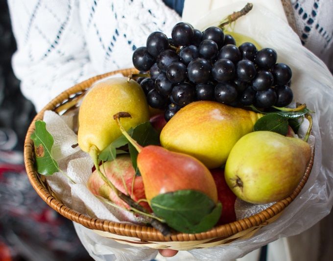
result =
[[[173,229],[183,233],[200,233],[214,227],[222,205],[215,205],[206,194],[196,190],[177,190],[159,194],[150,206]]]

